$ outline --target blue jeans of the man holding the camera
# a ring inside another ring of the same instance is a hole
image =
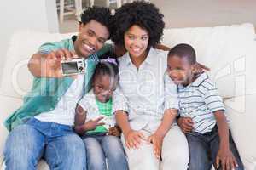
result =
[[[4,157],[7,170],[35,170],[42,157],[50,169],[86,169],[84,143],[72,127],[35,118],[9,133]]]

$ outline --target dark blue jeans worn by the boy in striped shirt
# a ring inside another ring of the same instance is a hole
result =
[[[210,170],[213,166],[216,168],[216,156],[219,148],[218,127],[215,126],[212,132],[186,133],[189,143],[189,170]],[[241,158],[236,149],[236,144],[230,133],[230,150],[236,158],[239,167],[236,170],[243,170]],[[220,163],[221,164],[221,163]],[[218,168],[222,169],[221,167]]]

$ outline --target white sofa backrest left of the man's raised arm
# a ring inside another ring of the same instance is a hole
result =
[[[27,62],[45,42],[60,41],[73,34],[48,33],[38,31],[17,31],[9,42],[9,49],[0,82],[0,94],[22,98],[32,87],[32,74]]]

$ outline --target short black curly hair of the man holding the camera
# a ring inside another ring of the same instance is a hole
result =
[[[86,25],[90,20],[96,20],[103,26],[106,26],[110,32],[110,22],[112,17],[113,16],[108,8],[94,6],[84,10],[81,14],[81,21],[79,23]]]

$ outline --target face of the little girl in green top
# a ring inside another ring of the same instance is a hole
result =
[[[105,103],[112,96],[113,90],[116,87],[116,81],[114,81],[109,75],[99,74],[94,78],[92,86],[96,99]]]

